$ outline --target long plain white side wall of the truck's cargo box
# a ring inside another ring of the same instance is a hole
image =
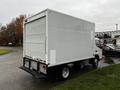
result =
[[[92,58],[94,29],[94,23],[48,10],[49,66]]]

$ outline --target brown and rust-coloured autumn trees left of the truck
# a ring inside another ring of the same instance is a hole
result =
[[[12,43],[13,45],[22,45],[24,18],[25,15],[20,15],[19,17],[13,19],[6,26],[1,26],[0,28],[1,45],[8,45],[8,43]]]

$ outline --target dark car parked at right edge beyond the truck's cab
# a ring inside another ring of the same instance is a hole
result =
[[[107,44],[103,47],[103,55],[108,57],[120,57],[120,47],[113,44]]]

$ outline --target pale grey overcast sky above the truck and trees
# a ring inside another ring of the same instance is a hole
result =
[[[33,15],[46,8],[94,22],[95,31],[120,29],[120,0],[1,0],[0,23],[21,15]]]

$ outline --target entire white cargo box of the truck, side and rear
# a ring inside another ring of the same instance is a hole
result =
[[[95,24],[50,9],[24,26],[24,57],[50,66],[92,58]]]

